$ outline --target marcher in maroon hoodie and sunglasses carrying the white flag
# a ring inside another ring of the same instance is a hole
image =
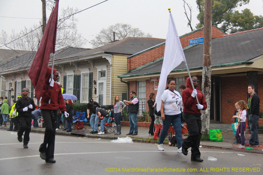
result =
[[[195,89],[193,90],[191,81]],[[188,137],[181,143],[182,152],[187,155],[188,148],[191,149],[191,161],[202,162],[203,159],[200,158],[199,144],[202,136],[202,121],[201,121],[201,111],[207,108],[205,97],[203,93],[197,90],[199,80],[196,76],[188,77],[186,80],[186,89],[182,92],[182,99],[184,104],[184,120],[187,124],[187,129],[189,131]],[[199,104],[197,104],[196,97],[198,98]]]

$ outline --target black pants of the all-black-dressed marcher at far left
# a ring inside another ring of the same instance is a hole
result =
[[[31,122],[32,122],[32,116],[20,116],[19,117],[20,127],[17,132],[17,136],[21,137],[24,134],[24,144],[27,144],[29,142],[29,134],[31,132]]]

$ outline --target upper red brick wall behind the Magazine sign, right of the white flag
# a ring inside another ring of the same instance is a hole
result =
[[[222,35],[225,35],[225,33],[222,32],[221,30],[217,29],[216,27],[212,26],[212,37],[222,36]],[[187,36],[180,38],[181,45],[183,48],[185,48],[189,44],[189,39],[201,38],[203,36],[204,36],[204,29],[196,31],[190,35],[187,35]]]

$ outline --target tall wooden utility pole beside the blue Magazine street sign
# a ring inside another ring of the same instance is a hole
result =
[[[211,97],[212,0],[205,0],[202,92],[207,109],[202,112],[202,134],[209,134]]]

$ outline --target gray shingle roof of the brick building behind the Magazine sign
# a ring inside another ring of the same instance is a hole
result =
[[[228,35],[212,39],[211,65],[227,64],[234,62],[250,61],[263,54],[263,28],[244,33]],[[184,50],[188,68],[203,66],[203,44]],[[136,71],[131,71],[123,76],[136,76],[136,74],[149,74],[162,69],[161,59]],[[175,69],[184,69],[182,62]],[[121,76],[120,76],[121,77]]]

